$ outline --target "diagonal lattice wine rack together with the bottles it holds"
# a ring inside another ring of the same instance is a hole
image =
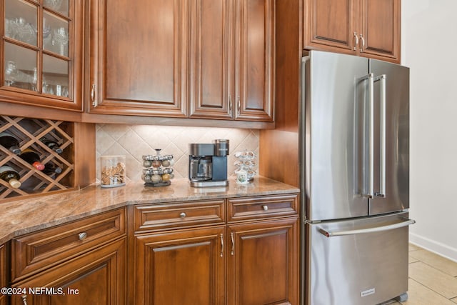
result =
[[[60,126],[59,126],[60,125]],[[68,189],[66,123],[0,116],[0,200]],[[64,171],[65,168],[65,171]]]

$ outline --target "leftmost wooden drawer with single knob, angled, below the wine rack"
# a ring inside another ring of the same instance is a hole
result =
[[[11,280],[54,266],[124,234],[125,208],[20,236],[11,246]]]

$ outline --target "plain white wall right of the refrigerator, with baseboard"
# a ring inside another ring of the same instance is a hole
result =
[[[411,68],[410,241],[457,261],[457,1],[402,1]]]

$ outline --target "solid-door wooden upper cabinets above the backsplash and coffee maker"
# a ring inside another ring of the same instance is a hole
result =
[[[274,0],[92,1],[91,114],[273,121]]]

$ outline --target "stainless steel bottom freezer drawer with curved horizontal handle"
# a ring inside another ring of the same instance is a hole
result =
[[[306,304],[373,305],[408,290],[408,213],[306,224]]]

